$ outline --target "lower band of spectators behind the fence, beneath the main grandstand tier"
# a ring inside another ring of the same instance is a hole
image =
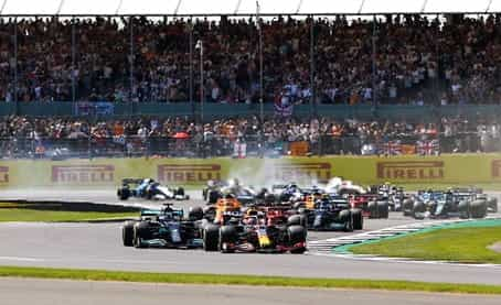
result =
[[[415,144],[433,139],[440,140],[443,152],[499,151],[501,124],[460,117],[443,118],[435,123],[327,117],[275,118],[264,122],[256,117],[227,118],[205,123],[181,117],[97,121],[9,117],[0,122],[0,151],[4,157],[34,152],[38,148],[43,151],[65,149],[84,156],[90,148],[100,154],[106,150],[111,155],[136,152],[140,155],[213,156],[231,155],[237,142],[247,143],[252,151],[284,148],[284,144],[301,141],[308,142],[316,154],[360,154],[365,144],[388,141]]]

